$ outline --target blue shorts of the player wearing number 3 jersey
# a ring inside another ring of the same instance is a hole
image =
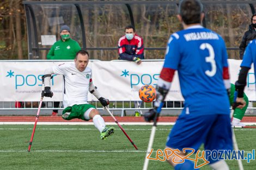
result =
[[[181,114],[167,138],[166,146],[182,150],[232,150],[232,131],[229,115]]]

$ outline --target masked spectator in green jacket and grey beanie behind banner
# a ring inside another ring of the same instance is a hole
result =
[[[66,25],[60,27],[61,39],[53,44],[48,60],[74,60],[76,53],[81,50],[78,42],[70,38],[70,28]],[[59,107],[59,102],[53,102],[54,108]],[[58,116],[58,110],[53,110],[52,116]]]

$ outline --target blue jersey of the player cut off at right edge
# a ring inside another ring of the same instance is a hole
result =
[[[252,40],[246,47],[245,53],[243,54],[243,61],[241,67],[251,68],[252,63],[254,63],[254,72],[256,71],[256,40]],[[256,74],[254,74],[256,80]]]

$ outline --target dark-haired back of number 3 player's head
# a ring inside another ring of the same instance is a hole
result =
[[[200,23],[203,4],[199,0],[182,0],[179,3],[179,14],[185,24]]]

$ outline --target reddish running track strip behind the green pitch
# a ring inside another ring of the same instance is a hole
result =
[[[111,116],[103,116],[105,122],[114,122]],[[118,122],[144,122],[143,117],[115,116]],[[159,117],[158,122],[175,122],[177,117]],[[0,122],[35,122],[35,116],[0,116]],[[39,116],[38,122],[67,122],[61,116]],[[69,122],[84,122],[81,119],[72,119]],[[92,122],[90,120],[89,122]],[[243,117],[241,122],[256,122],[256,117]]]

